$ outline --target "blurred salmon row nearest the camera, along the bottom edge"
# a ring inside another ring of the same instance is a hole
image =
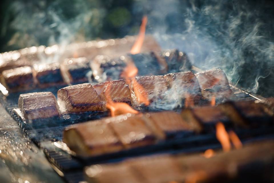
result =
[[[211,158],[200,154],[137,157],[92,165],[84,173],[87,181],[104,183],[269,182],[273,179],[273,148],[273,140],[268,140],[230,152],[216,152]]]

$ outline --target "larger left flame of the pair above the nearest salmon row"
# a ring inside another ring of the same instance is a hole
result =
[[[225,126],[221,122],[218,122],[216,124],[216,138],[221,143],[223,151],[227,152],[231,149],[231,144],[229,142],[229,135],[227,131],[225,130]]]

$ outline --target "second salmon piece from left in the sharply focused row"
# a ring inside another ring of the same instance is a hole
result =
[[[57,92],[60,108],[69,113],[104,111],[103,102],[90,83],[71,85]]]

